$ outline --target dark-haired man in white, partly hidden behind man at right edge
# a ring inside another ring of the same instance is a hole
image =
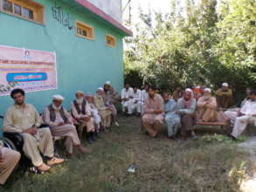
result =
[[[247,88],[246,89],[246,98],[242,101],[240,108],[232,108],[230,110],[225,111],[225,120],[227,121],[228,127],[233,127],[235,124],[235,120],[238,116],[240,116],[241,108],[245,105],[246,101],[251,99],[252,89]]]

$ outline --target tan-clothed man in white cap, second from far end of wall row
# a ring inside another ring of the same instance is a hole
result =
[[[111,113],[112,113],[112,108],[109,108],[105,106],[104,101],[103,101],[103,94],[104,90],[103,88],[98,88],[98,91],[96,95],[94,96],[94,104],[96,108],[98,109],[98,112],[101,117],[101,126],[104,131],[107,130],[107,128],[110,127],[111,123]]]

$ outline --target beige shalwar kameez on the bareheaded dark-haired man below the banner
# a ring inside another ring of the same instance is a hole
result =
[[[39,128],[35,135],[25,134],[24,130],[31,127],[39,127],[41,118],[34,106],[24,104],[24,106],[13,105],[7,110],[3,120],[3,132],[20,133],[24,138],[24,154],[31,159],[32,164],[39,167],[43,164],[40,155],[52,158],[54,148],[52,134],[49,128]]]

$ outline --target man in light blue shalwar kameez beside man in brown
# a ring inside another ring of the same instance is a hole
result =
[[[164,120],[167,124],[168,138],[173,139],[176,136],[177,129],[180,125],[181,118],[176,114],[176,102],[169,98],[168,93],[163,93],[164,100]]]

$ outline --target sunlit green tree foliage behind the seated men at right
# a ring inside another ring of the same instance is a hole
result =
[[[135,38],[126,39],[126,79],[163,91],[224,81],[238,92],[256,86],[254,0],[223,1],[219,11],[216,0],[187,0],[184,10],[173,0],[171,7],[165,16],[141,13]]]

